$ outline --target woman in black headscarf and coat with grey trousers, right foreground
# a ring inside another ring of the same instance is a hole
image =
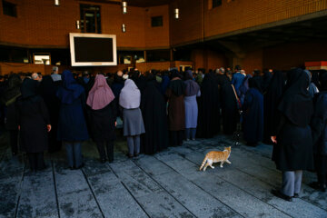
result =
[[[309,76],[302,69],[287,74],[287,84],[278,104],[278,127],[272,134],[272,160],[282,171],[281,190],[272,193],[286,201],[298,197],[302,171],[312,170],[312,97],[308,92]]]

